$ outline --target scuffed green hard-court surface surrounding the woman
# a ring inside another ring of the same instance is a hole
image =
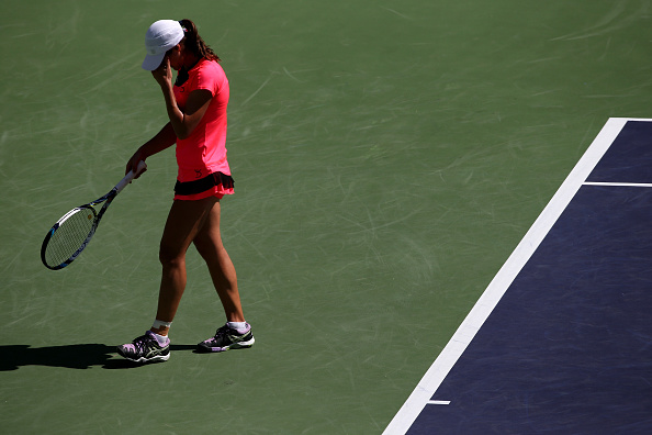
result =
[[[650,118],[650,1],[16,1],[0,5],[5,434],[379,434],[606,120]],[[113,202],[70,267],[43,237],[166,122],[140,69],[194,20],[231,82],[223,201],[256,345],[198,254],[165,364],[147,330],[176,163]],[[442,428],[441,433],[447,433]]]

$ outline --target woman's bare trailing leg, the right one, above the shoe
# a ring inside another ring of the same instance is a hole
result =
[[[220,202],[213,204],[204,225],[194,237],[194,246],[206,261],[215,290],[228,322],[244,322],[235,267],[222,244]]]

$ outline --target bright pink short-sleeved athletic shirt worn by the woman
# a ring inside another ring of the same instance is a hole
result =
[[[212,172],[231,175],[226,161],[226,105],[228,80],[224,69],[214,60],[201,59],[188,71],[188,80],[175,85],[175,98],[183,112],[188,96],[196,89],[213,94],[206,112],[190,136],[177,140],[177,164],[181,182],[194,181]]]

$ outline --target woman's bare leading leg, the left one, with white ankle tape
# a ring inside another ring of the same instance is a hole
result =
[[[156,319],[160,321],[171,322],[175,319],[186,290],[186,252],[206,223],[215,204],[220,205],[216,198],[172,203],[159,250],[162,276]],[[169,327],[153,327],[151,331],[167,335]]]

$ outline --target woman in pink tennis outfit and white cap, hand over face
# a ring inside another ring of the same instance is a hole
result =
[[[234,192],[225,148],[228,80],[220,58],[190,20],[155,22],[145,46],[143,68],[160,86],[170,122],[134,153],[126,172],[175,143],[179,172],[160,242],[162,278],[156,319],[145,335],[119,346],[117,353],[137,362],[169,359],[168,332],[186,288],[186,252],[191,243],[209,266],[227,320],[198,349],[251,347],[254,335],[243,314],[236,271],[220,234],[220,200]],[[175,85],[172,69],[178,71]]]

